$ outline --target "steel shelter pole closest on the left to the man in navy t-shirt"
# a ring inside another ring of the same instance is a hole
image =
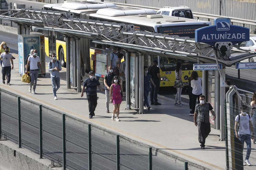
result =
[[[77,93],[81,92],[81,56],[80,56],[80,39],[77,39]]]

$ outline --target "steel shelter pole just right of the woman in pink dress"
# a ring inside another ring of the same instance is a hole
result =
[[[131,102],[131,90],[130,90],[130,56],[129,52],[125,52],[125,88],[126,88],[126,109],[130,109],[130,102]],[[129,106],[129,108],[128,108]]]

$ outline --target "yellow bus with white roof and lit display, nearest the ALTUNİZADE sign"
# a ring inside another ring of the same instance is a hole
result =
[[[135,7],[118,7],[99,9],[89,15],[89,19],[133,24],[135,30],[155,32],[180,37],[195,38],[195,30],[211,25],[208,21],[197,21],[188,18],[159,15],[152,9]],[[160,87],[174,86],[176,63],[182,63],[182,76],[185,85],[188,85],[188,77],[193,71],[193,62],[177,60],[168,57],[152,56],[144,54],[144,66],[150,67],[154,60],[158,60],[160,68]],[[202,76],[202,72],[198,72]]]

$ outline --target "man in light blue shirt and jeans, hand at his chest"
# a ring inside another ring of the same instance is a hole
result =
[[[52,60],[48,63],[48,71],[50,72],[52,91],[54,100],[57,100],[56,91],[60,88],[60,71],[61,64],[60,61],[56,59],[56,54],[51,54]]]

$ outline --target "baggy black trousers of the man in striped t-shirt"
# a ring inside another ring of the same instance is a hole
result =
[[[211,125],[210,123],[206,122],[197,122],[198,127],[198,141],[201,147],[205,147],[205,139],[211,132]]]

